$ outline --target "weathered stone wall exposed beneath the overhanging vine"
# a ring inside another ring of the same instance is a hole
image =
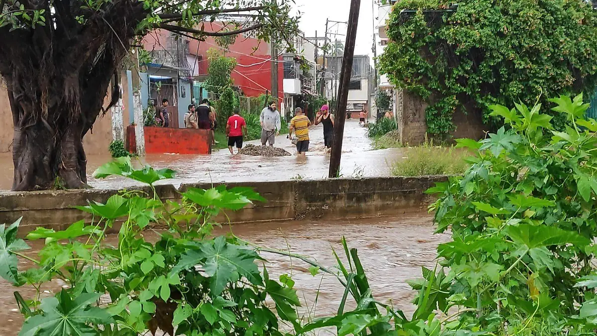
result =
[[[420,145],[427,139],[427,121],[425,109],[429,106],[420,96],[406,90],[396,92],[396,118],[400,142],[408,145]],[[471,138],[475,140],[485,137],[485,125],[481,112],[464,114],[461,109],[454,112],[453,122],[456,130],[451,133],[453,139]]]

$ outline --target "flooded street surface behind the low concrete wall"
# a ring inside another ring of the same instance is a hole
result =
[[[389,176],[390,166],[402,158],[399,148],[373,150],[371,140],[367,138],[367,129],[358,126],[358,120],[347,120],[344,129],[342,176],[368,177]],[[284,181],[288,179],[321,179],[328,176],[330,155],[326,154],[323,128],[313,126],[309,132],[310,148],[306,158],[290,157],[253,157],[230,155],[228,149],[221,149],[211,155],[147,155],[140,158],[141,163],[151,166],[171,168],[177,171],[174,180],[161,181],[164,184],[180,185],[197,182],[243,182],[243,181]],[[250,141],[254,145],[259,140]],[[285,135],[276,137],[276,146],[293,154],[296,148]],[[123,188],[135,185],[124,178],[91,178],[93,171],[108,161],[109,156],[90,155],[88,157],[89,184],[95,188]],[[9,154],[0,155],[0,190],[9,190],[13,180],[13,162]]]

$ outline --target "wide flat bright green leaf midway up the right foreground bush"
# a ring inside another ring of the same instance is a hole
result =
[[[508,225],[504,230],[516,244],[527,246],[528,249],[565,244],[581,247],[590,244],[589,239],[576,232],[546,225]]]

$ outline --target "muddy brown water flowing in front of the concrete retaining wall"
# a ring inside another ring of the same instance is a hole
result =
[[[433,234],[432,218],[426,213],[407,213],[386,218],[369,218],[341,221],[288,221],[259,224],[239,224],[219,230],[218,234],[232,230],[242,239],[261,246],[284,249],[286,251],[311,256],[326,267],[334,267],[335,259],[332,246],[341,251],[340,239],[345,236],[349,246],[358,248],[362,264],[374,296],[394,307],[405,311],[407,316],[413,312],[410,303],[414,292],[405,283],[407,279],[416,279],[421,275],[421,266],[435,265],[435,248],[448,240],[447,234]],[[114,239],[114,237],[110,238]],[[33,249],[27,255],[34,256],[42,242],[29,242]],[[298,296],[303,307],[309,307],[315,316],[334,314],[344,292],[344,288],[335,277],[309,273],[309,265],[298,259],[273,253],[263,253],[270,276],[292,274],[296,281]],[[23,262],[20,269],[28,265]],[[54,280],[51,285],[42,288],[45,296],[60,291],[60,283]],[[318,303],[313,310],[313,301],[319,289]],[[16,336],[23,319],[17,311],[13,292],[17,288],[0,280],[0,335]],[[35,294],[31,288],[18,288],[23,297]],[[305,313],[306,314],[306,313]],[[333,335],[321,332],[320,335]]]

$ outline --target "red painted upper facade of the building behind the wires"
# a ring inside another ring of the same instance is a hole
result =
[[[223,28],[221,22],[206,22],[203,26],[205,31],[217,32]],[[231,30],[235,29],[232,26]],[[163,49],[170,32],[167,30],[153,30],[143,38],[143,45],[146,50]],[[238,35],[234,44],[230,45],[229,50],[223,50],[216,43],[216,39],[208,36],[205,41],[196,41],[189,39],[189,53],[199,55],[199,74],[207,74],[208,63],[207,51],[215,48],[222,52],[225,51],[227,57],[234,57],[238,65],[232,72],[232,80],[238,85],[245,96],[257,97],[268,90],[272,91],[272,63],[269,54],[269,44],[252,38],[248,35]],[[282,57],[278,57],[282,60]],[[284,63],[278,63],[278,99],[281,102],[284,98],[282,80],[284,78]]]

